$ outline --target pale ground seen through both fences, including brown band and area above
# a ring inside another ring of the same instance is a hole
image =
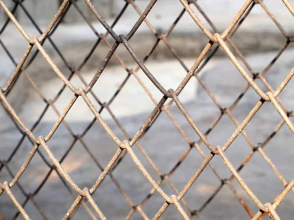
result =
[[[179,4],[178,1],[173,1],[177,5]],[[140,8],[144,8],[144,5],[147,4],[146,0],[137,2]],[[220,30],[223,30],[227,26],[242,6],[242,1],[227,0],[228,4],[223,2],[224,1],[217,0],[207,1],[207,3],[205,1],[199,1],[199,4],[203,9],[210,11],[209,16]],[[277,1],[264,2],[277,17],[278,21],[282,23],[286,31],[288,33],[294,33],[292,22],[289,22],[291,14],[282,4],[282,1],[279,1],[278,3]],[[148,15],[151,24],[156,28],[160,27],[162,31],[165,31],[167,24],[172,23],[176,15],[180,12],[176,4],[171,3],[167,5],[167,2],[159,0],[157,2],[158,7],[155,7],[154,10],[151,11],[152,13],[150,12],[150,15]],[[229,5],[229,7],[226,5]],[[244,22],[241,26],[242,29],[240,32],[237,32],[237,35],[232,41],[246,55],[246,60],[253,70],[255,72],[261,72],[274,58],[277,50],[281,48],[282,44],[285,42],[285,38],[278,32],[276,26],[268,18],[265,12],[261,10],[260,6],[257,6],[258,7],[253,10],[252,16],[248,18],[247,22]],[[165,10],[166,16],[161,13],[162,11],[160,8],[162,7],[168,7],[169,9]],[[220,8],[222,10],[220,10]],[[134,12],[131,12],[133,9],[130,8],[128,10],[128,13],[126,13],[115,29],[117,33],[127,33],[132,27],[134,19],[138,17]],[[159,16],[159,14],[161,14],[161,16]],[[223,16],[224,14],[226,16]],[[185,58],[185,64],[188,67],[191,67],[195,62],[199,51],[201,51],[203,46],[207,43],[207,38],[199,31],[192,19],[190,19],[188,15],[185,16],[186,17],[181,20],[182,22],[179,23],[178,29],[175,29],[174,34],[172,33],[169,37],[169,41],[181,57]],[[94,26],[99,32],[103,30],[98,23],[94,24]],[[195,29],[190,28],[191,26],[195,27]],[[37,33],[31,25],[26,26],[25,29],[30,35]],[[70,36],[69,33],[71,33]],[[83,34],[81,35],[80,33]],[[13,36],[13,38],[11,36]],[[85,57],[91,46],[94,44],[93,41],[96,38],[85,24],[81,24],[79,26],[61,26],[52,36],[52,39],[56,42],[57,46],[61,48],[61,52],[67,58],[71,66],[78,66],[82,61],[82,58]],[[181,39],[181,41],[179,39]],[[195,41],[195,39],[197,39],[197,41]],[[15,31],[15,28],[12,25],[3,32],[1,40],[8,46],[14,58],[19,60],[27,44],[22,39],[22,36]],[[143,24],[142,28],[140,27],[138,30],[138,34],[130,41],[130,44],[142,57],[155,40],[155,37],[152,37],[149,34],[147,26]],[[18,43],[15,44],[15,42]],[[142,42],[144,42],[144,44],[142,44]],[[48,42],[44,47],[54,63],[65,75],[68,75],[69,71],[58,58],[58,55],[53,52],[52,47]],[[168,51],[166,46],[160,44],[158,48],[157,51],[154,51],[150,61],[147,62],[147,67],[152,74],[154,74],[155,78],[165,86],[165,88],[176,88],[185,76],[185,70],[176,60],[171,59],[172,54]],[[87,66],[83,68],[81,73],[87,82],[89,82],[95,74],[99,63],[104,59],[108,52],[107,50],[108,47],[105,44],[98,47]],[[282,82],[283,78],[293,67],[293,52],[293,49],[287,49],[277,60],[275,65],[271,67],[269,73],[267,73],[266,79],[273,88],[278,87],[280,82]],[[135,67],[123,46],[119,47],[118,53],[124,58],[128,67]],[[5,84],[14,68],[4,50],[0,50],[0,64],[0,85],[2,86]],[[43,60],[42,56],[37,56],[34,65],[27,71],[36,82],[36,85],[40,88],[41,92],[48,99],[53,98],[62,86],[61,81],[55,76],[55,73],[50,70],[50,67]],[[142,71],[139,72],[138,75],[142,78],[143,82],[147,85],[147,88],[158,101],[161,97],[160,92],[149,82]],[[115,59],[112,59],[110,65],[106,67],[101,78],[93,88],[94,93],[102,102],[107,102],[125,76],[125,70],[123,70],[121,66],[117,66]],[[218,53],[216,58],[208,63],[200,76],[222,107],[228,107],[246,86],[244,78],[221,52]],[[73,77],[72,83],[75,86],[82,85],[77,77]],[[264,91],[267,91],[262,85],[262,82],[258,81],[258,85]],[[292,88],[293,81],[291,81],[280,94],[282,101],[289,110],[294,110]],[[59,111],[62,111],[72,95],[72,92],[69,89],[66,89],[55,103],[56,108]],[[89,97],[96,107],[98,107],[93,96],[89,95]],[[191,79],[187,87],[179,95],[179,99],[182,101],[184,107],[193,117],[202,132],[205,132],[209,128],[220,113],[203,88],[198,85],[195,78]],[[10,97],[8,97],[8,100],[28,127],[33,125],[42,110],[46,107],[35,90],[29,86],[24,75],[20,77],[20,80],[16,84],[15,89],[13,89]],[[259,96],[256,95],[253,89],[249,89],[237,107],[232,110],[232,114],[236,117],[239,123],[244,120],[258,100]],[[126,132],[128,132],[130,136],[133,136],[140,129],[141,125],[154,108],[154,104],[136,81],[135,77],[130,76],[126,86],[111,104],[110,108],[118,117]],[[198,137],[196,133],[190,127],[189,123],[177,107],[173,104],[170,110],[173,117],[183,128],[189,139],[191,141],[197,141]],[[118,137],[122,140],[125,139],[123,133],[115,124],[110,114],[107,113],[106,110],[103,110],[101,115]],[[94,116],[92,112],[87,108],[82,99],[78,98],[65,120],[75,134],[80,134],[93,118]],[[56,119],[56,114],[51,107],[49,107],[41,123],[34,131],[34,134],[36,136],[45,136]],[[270,103],[265,103],[247,125],[245,132],[254,144],[262,143],[268,136],[270,136],[280,122],[281,117],[277,111]],[[18,141],[21,139],[21,135],[2,109],[0,111],[0,123],[3,125],[0,127],[0,159],[5,160],[14,150]],[[213,145],[223,145],[235,129],[236,126],[232,123],[229,117],[224,115],[219,124],[208,135],[208,139]],[[48,142],[48,146],[56,158],[60,159],[72,142],[73,137],[70,135],[66,127],[61,125]],[[87,132],[84,137],[84,142],[90,148],[90,151],[95,155],[102,167],[106,166],[117,150],[117,146],[101,128],[98,122],[94,124],[89,132]],[[294,165],[292,159],[294,151],[291,143],[293,143],[293,134],[289,128],[284,125],[264,149],[265,153],[270,157],[271,161],[288,182],[294,176],[294,172],[291,169]],[[140,144],[162,174],[168,173],[177,163],[182,154],[184,154],[189,148],[189,145],[177,131],[165,112],[160,115],[158,120],[152,125],[151,129],[140,140]],[[25,139],[17,154],[15,154],[13,159],[9,162],[8,167],[13,174],[19,170],[25,157],[31,150],[31,147],[32,145],[28,139]],[[203,144],[201,144],[200,147],[205,154],[209,153]],[[40,151],[49,160],[46,153],[42,149]],[[159,176],[152,169],[137,146],[134,146],[134,151],[148,172],[150,172],[151,176],[153,176],[156,181],[159,180]],[[226,154],[235,168],[237,168],[249,152],[250,146],[245,141],[245,138],[242,135],[239,135],[226,151]],[[185,183],[195,173],[202,161],[203,158],[201,155],[196,149],[193,149],[171,177],[172,182],[178,190],[181,190],[184,187]],[[216,156],[212,160],[212,164],[216,167],[222,178],[228,178],[230,176],[230,172],[219,156]],[[91,187],[101,173],[80,142],[74,144],[73,149],[63,161],[62,165],[80,188]],[[20,178],[19,183],[23,186],[26,193],[32,193],[42,182],[48,171],[49,168],[43,162],[40,155],[36,154],[27,167],[24,175]],[[250,189],[263,203],[271,202],[284,187],[265,159],[258,152],[249,160],[248,164],[240,174]],[[113,175],[135,204],[139,204],[152,188],[130,156],[126,156],[123,159],[120,166],[113,172]],[[11,180],[6,168],[0,172],[0,182],[4,180]],[[197,210],[212,195],[219,184],[220,180],[215,176],[211,169],[207,167],[184,198],[192,209]],[[237,181],[233,180],[232,184],[238,194],[245,200],[252,213],[255,214],[258,211],[257,206],[245,194]],[[161,187],[167,195],[174,194],[174,191],[167,182],[164,182]],[[22,196],[20,188],[16,185],[12,188],[12,191],[22,203],[24,201],[24,196]],[[107,219],[124,219],[131,209],[109,177],[106,177],[103,180],[101,186],[93,197]],[[48,181],[35,197],[35,201],[39,204],[40,208],[49,219],[55,220],[63,217],[73,203],[73,198],[60,181],[58,175],[55,172],[52,172]],[[163,202],[163,198],[155,193],[143,207],[143,210],[151,219]],[[294,194],[293,192],[290,192],[277,208],[277,213],[281,219],[292,219],[292,216],[294,215],[293,205]],[[90,206],[90,204],[88,204],[88,206]],[[31,201],[25,206],[25,211],[32,219],[42,219]],[[0,213],[5,220],[11,219],[15,212],[16,208],[7,195],[5,193],[1,195]],[[250,219],[238,199],[226,185],[223,186],[219,194],[200,213],[200,217],[204,220]],[[266,218],[268,217],[265,217],[265,219]],[[22,217],[19,219],[22,219]],[[73,219],[90,219],[90,217],[86,213],[84,207],[81,206],[73,216]],[[135,213],[131,219],[137,220],[142,218],[138,213]],[[181,216],[178,214],[174,206],[170,206],[162,219],[177,220],[181,219]]]

